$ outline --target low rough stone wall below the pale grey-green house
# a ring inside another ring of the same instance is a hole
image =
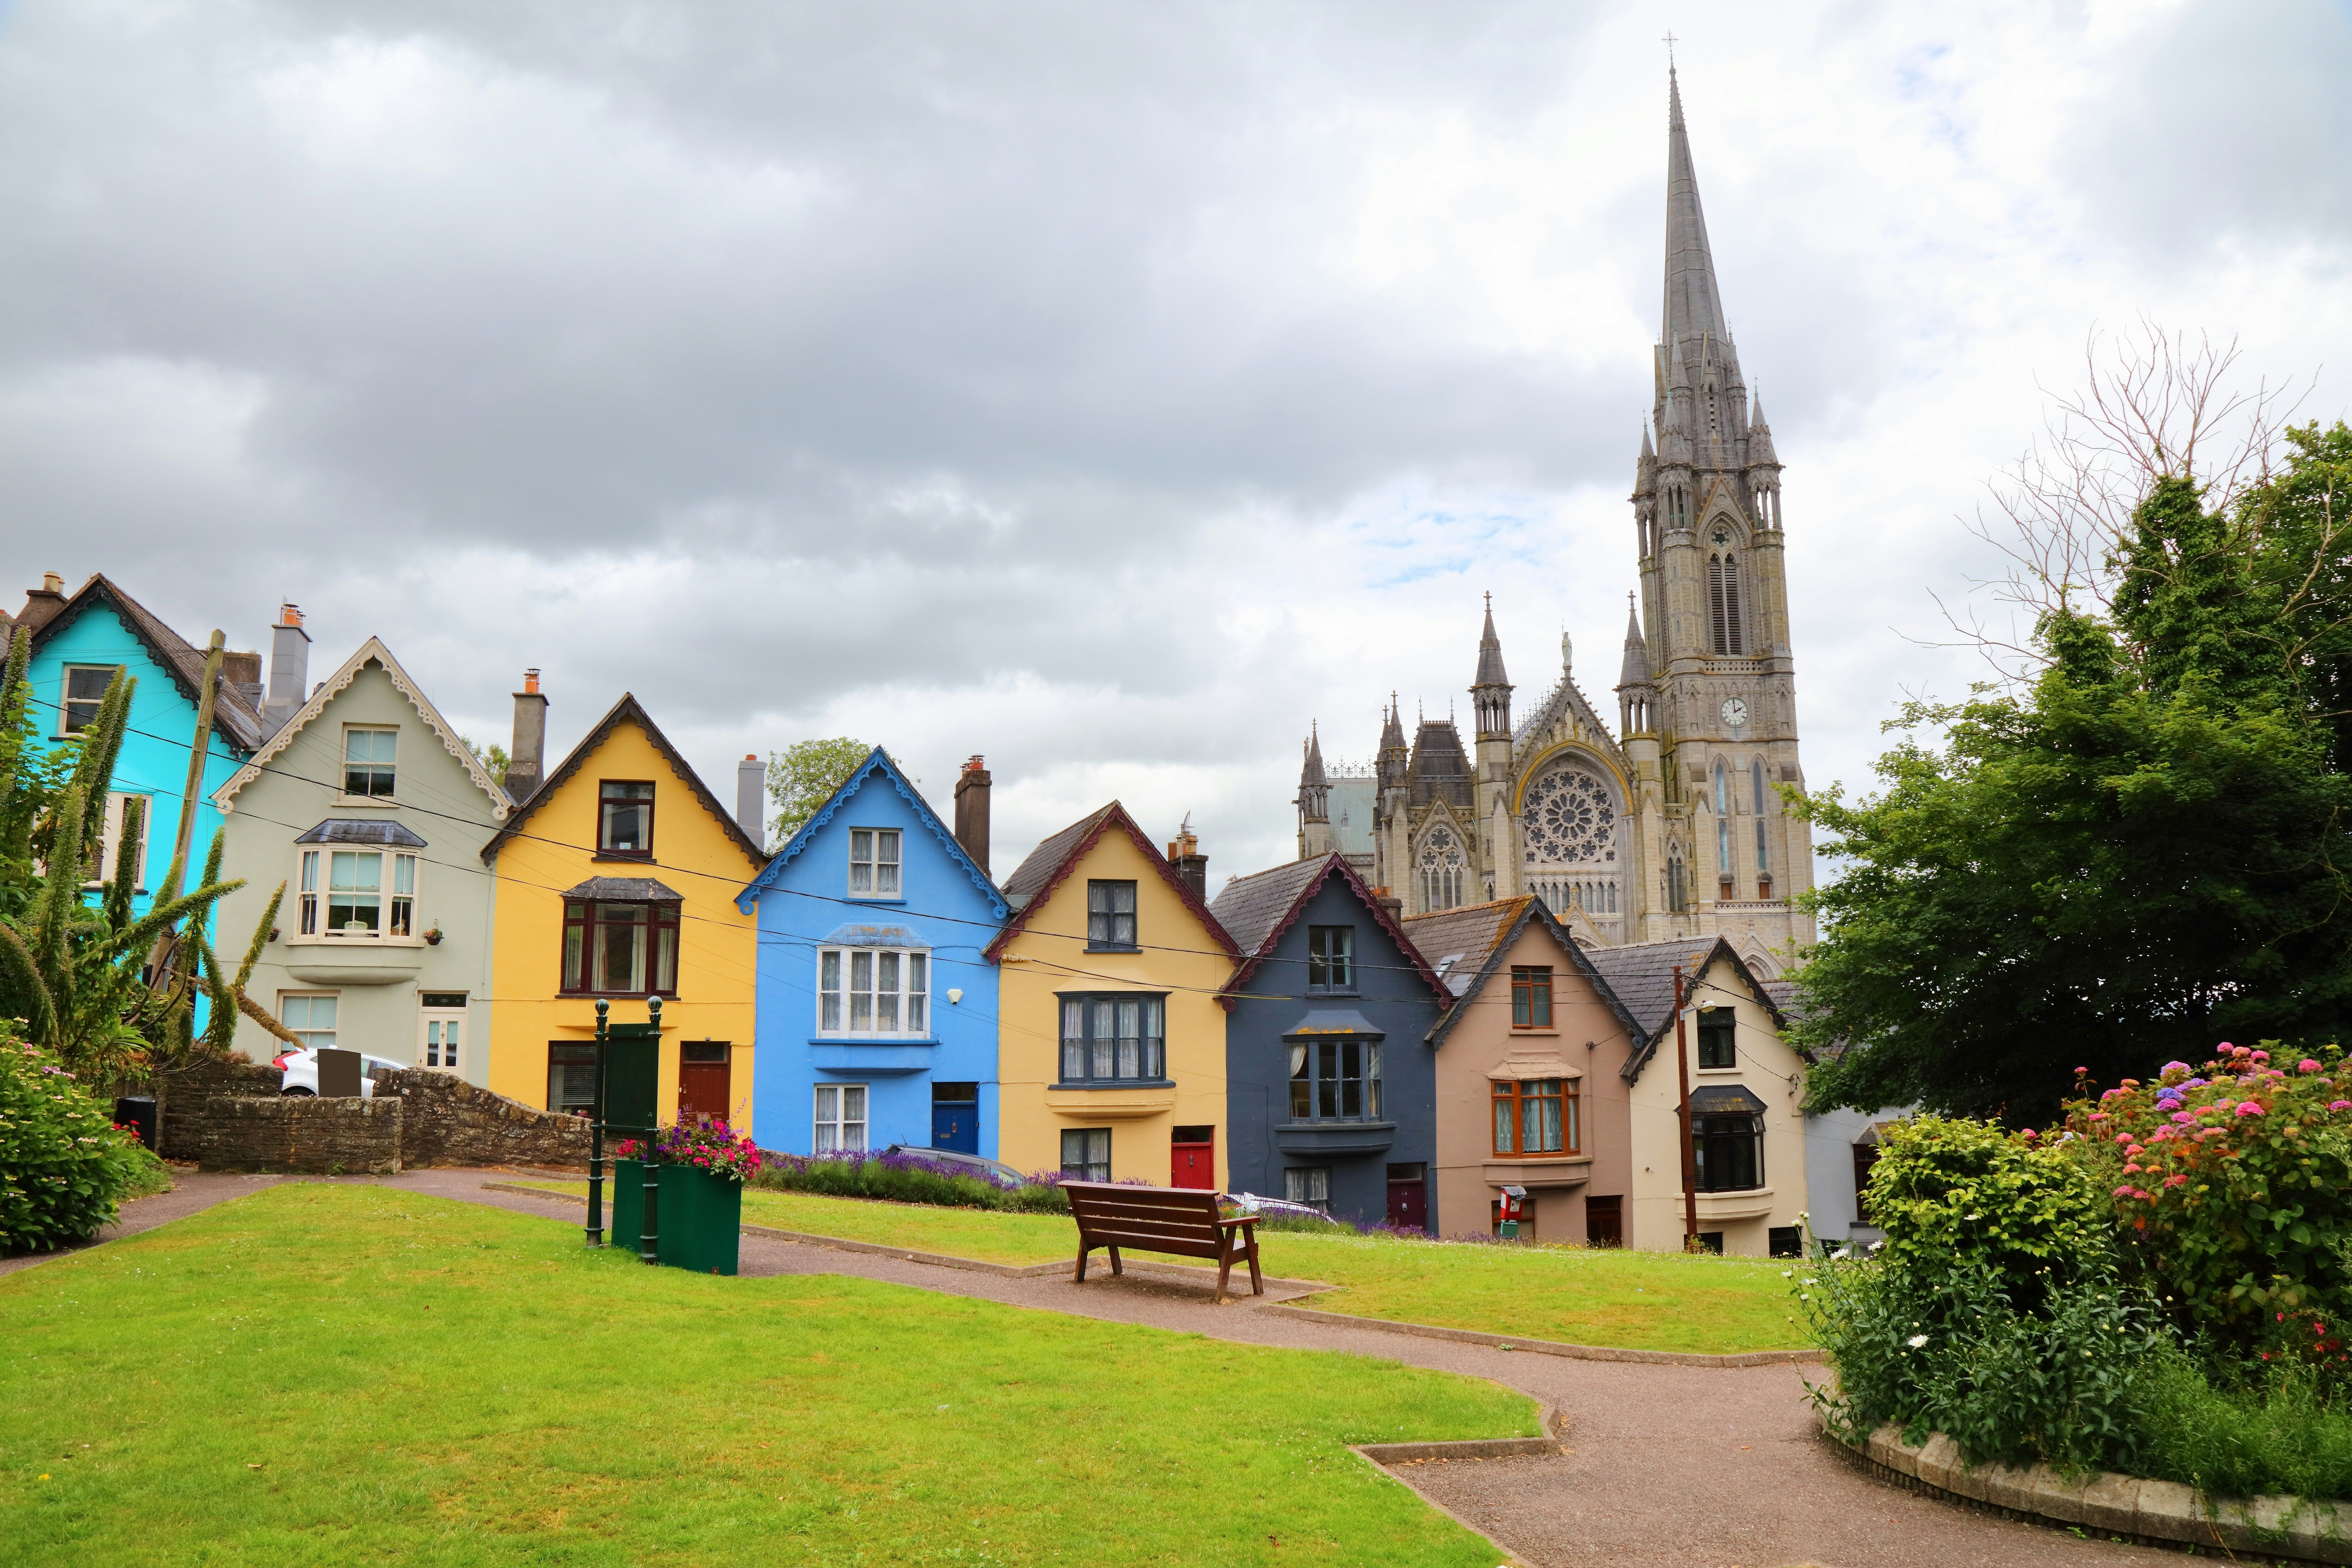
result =
[[[270,1171],[586,1166],[588,1124],[447,1072],[376,1072],[360,1100],[280,1095],[280,1072],[202,1060],[158,1084],[162,1157]]]

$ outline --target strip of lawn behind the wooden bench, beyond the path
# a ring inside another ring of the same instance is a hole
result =
[[[583,1182],[529,1185],[586,1192]],[[743,1220],[983,1262],[1061,1262],[1077,1251],[1065,1215],[750,1190]],[[1268,1232],[1258,1255],[1268,1274],[1338,1286],[1301,1302],[1324,1312],[1628,1349],[1733,1354],[1804,1345],[1790,1314],[1792,1265],[1762,1258],[1301,1232]]]

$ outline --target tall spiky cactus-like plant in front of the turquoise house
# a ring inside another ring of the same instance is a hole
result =
[[[85,896],[85,867],[101,863],[106,788],[136,682],[118,672],[80,733],[40,748],[28,726],[28,654],[31,637],[19,635],[0,665],[0,1018],[21,1018],[26,1037],[85,1084],[169,1070],[193,1053],[226,1053],[240,1013],[278,1032],[245,994],[278,898],[263,910],[235,978],[205,936],[212,907],[245,886],[221,882],[221,835],[198,886],[155,898],[146,914],[132,910],[134,856],[118,856],[94,903]],[[141,827],[141,802],[132,799],[125,839]],[[160,886],[181,884],[174,858]],[[198,997],[209,1011],[202,1039]]]

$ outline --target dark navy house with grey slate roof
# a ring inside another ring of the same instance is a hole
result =
[[[1341,856],[1237,877],[1209,912],[1242,947],[1225,1018],[1232,1190],[1430,1229],[1423,1041],[1454,994]]]

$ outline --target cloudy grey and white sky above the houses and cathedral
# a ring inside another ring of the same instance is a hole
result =
[[[1679,42],[1785,473],[1806,773],[1870,783],[2093,329],[2352,388],[2345,5],[0,5],[0,562],[482,741],[633,689],[1289,858],[1298,743],[1613,710]]]

